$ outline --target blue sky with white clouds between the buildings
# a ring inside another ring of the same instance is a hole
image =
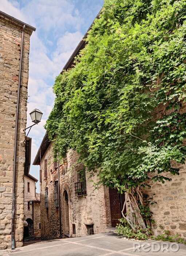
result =
[[[104,0],[0,0],[0,10],[36,27],[30,40],[27,127],[29,113],[43,112],[41,123],[34,126],[32,162],[43,139],[45,124],[54,103],[52,86]],[[39,166],[31,166],[30,174],[39,180]],[[39,192],[39,182],[37,185]]]

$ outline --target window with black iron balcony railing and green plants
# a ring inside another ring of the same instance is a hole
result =
[[[86,186],[86,176],[85,176],[85,170],[80,170],[77,173],[77,181],[75,183],[75,193],[78,196],[86,195],[87,194],[87,186]]]

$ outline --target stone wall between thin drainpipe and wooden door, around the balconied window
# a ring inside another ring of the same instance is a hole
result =
[[[68,212],[70,236],[86,236],[86,225],[94,225],[94,233],[106,232],[106,227],[111,226],[110,199],[108,188],[101,187],[95,189],[93,184],[96,182],[97,175],[90,177],[86,172],[86,191],[87,195],[78,196],[75,193],[75,182],[77,182],[77,174],[81,166],[73,167],[77,160],[77,155],[70,150],[67,154],[67,166],[62,165],[62,220],[63,228],[66,228],[65,218],[63,217],[63,208],[66,208],[64,199],[64,191],[68,193]],[[76,234],[72,232],[72,224],[75,225]],[[64,232],[63,232],[64,233]]]

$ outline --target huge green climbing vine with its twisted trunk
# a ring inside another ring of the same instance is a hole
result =
[[[99,184],[125,192],[133,230],[149,225],[149,174],[165,182],[179,174],[171,163],[185,162],[185,19],[185,0],[106,0],[76,67],[54,84],[54,153],[73,148]]]

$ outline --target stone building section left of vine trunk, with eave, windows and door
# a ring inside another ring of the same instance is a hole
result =
[[[95,190],[91,180],[97,176],[90,178],[77,159],[70,150],[58,176],[52,142],[44,136],[33,163],[40,165],[41,239],[60,238],[60,231],[62,237],[104,233],[121,217],[124,195],[106,187]]]

